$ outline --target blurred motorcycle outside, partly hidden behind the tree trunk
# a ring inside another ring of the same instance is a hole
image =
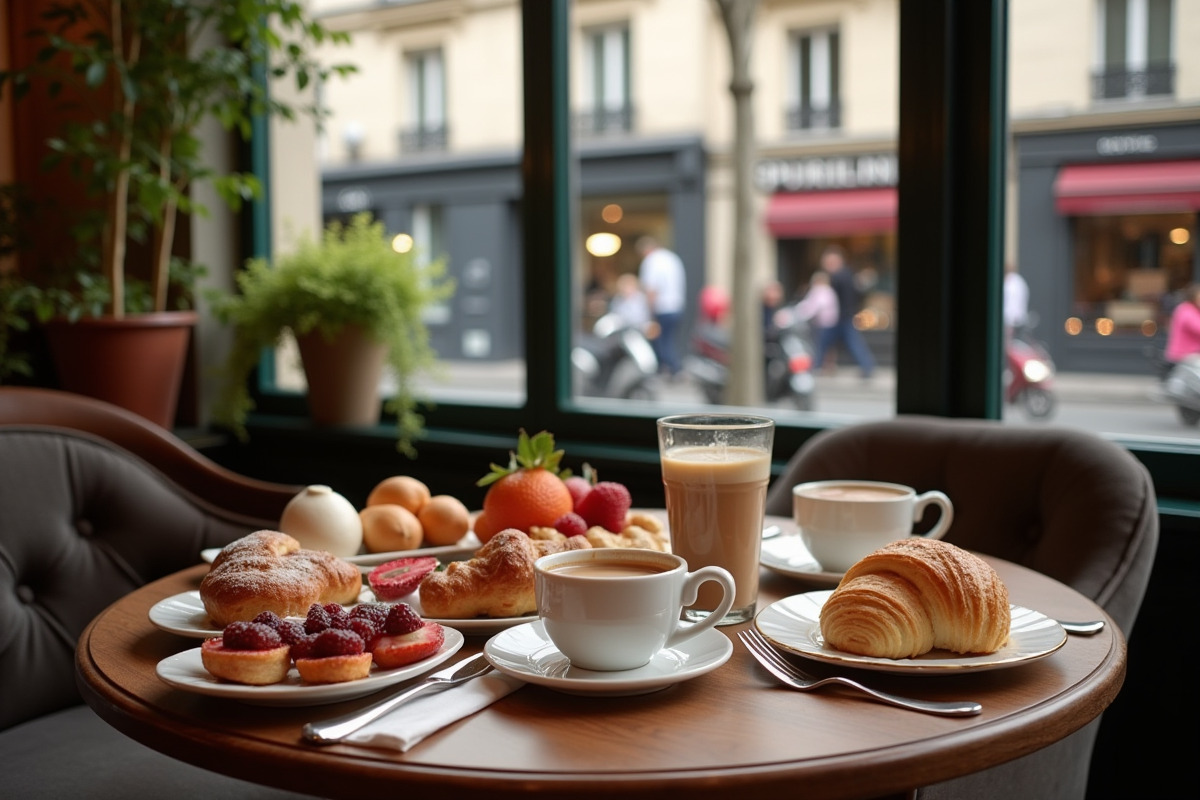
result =
[[[812,377],[812,349],[803,324],[767,329],[763,339],[764,393],[768,402],[790,399],[800,411],[812,410],[816,379]],[[730,337],[724,327],[702,321],[692,335],[691,353],[684,371],[700,387],[704,399],[720,405],[730,374]]]

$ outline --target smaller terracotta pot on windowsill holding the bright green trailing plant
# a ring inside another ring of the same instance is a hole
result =
[[[308,381],[308,414],[316,425],[364,426],[379,422],[379,380],[388,348],[359,326],[348,325],[332,341],[313,331],[296,337]]]

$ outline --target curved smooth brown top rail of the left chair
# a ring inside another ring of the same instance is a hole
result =
[[[92,433],[128,450],[198,498],[226,512],[278,517],[304,487],[259,481],[233,473],[172,432],[127,411],[74,392],[0,386],[0,426],[44,425]]]

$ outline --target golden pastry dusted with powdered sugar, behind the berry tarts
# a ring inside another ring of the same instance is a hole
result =
[[[217,627],[264,610],[304,616],[312,603],[350,603],[362,573],[324,551],[306,551],[287,534],[259,530],[217,553],[200,582],[200,601]]]

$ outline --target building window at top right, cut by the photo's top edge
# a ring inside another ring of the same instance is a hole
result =
[[[1098,0],[1096,100],[1175,94],[1171,0]]]

